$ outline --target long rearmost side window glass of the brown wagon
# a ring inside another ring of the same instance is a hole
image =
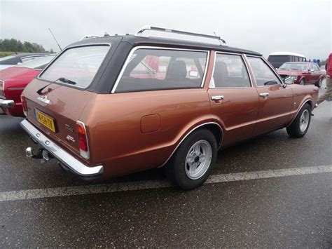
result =
[[[112,93],[200,88],[207,55],[205,51],[139,48],[127,59]]]

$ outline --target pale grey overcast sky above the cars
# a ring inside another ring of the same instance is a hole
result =
[[[332,51],[330,1],[4,1],[0,38],[59,51],[85,34],[134,34],[144,25],[213,34],[228,46],[325,59]]]

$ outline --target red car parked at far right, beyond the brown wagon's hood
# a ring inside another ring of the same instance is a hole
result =
[[[321,70],[314,62],[285,62],[278,69],[277,73],[283,79],[292,77],[294,83],[300,85],[314,84],[321,87],[326,72]]]

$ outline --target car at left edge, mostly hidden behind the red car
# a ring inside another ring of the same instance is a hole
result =
[[[8,55],[0,58],[0,70],[46,55],[50,55],[50,53],[18,53],[17,55]]]

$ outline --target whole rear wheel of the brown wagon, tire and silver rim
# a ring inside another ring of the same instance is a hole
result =
[[[216,163],[216,138],[207,129],[196,130],[181,143],[165,168],[181,189],[195,189],[207,180]]]

